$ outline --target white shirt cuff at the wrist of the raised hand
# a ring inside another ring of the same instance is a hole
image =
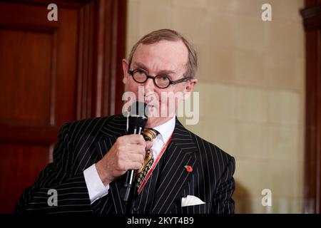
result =
[[[83,170],[83,176],[85,177],[91,204],[97,199],[100,199],[108,194],[109,185],[103,185],[101,177],[99,177],[96,170],[95,164],[91,165],[91,167],[88,167],[86,170]]]

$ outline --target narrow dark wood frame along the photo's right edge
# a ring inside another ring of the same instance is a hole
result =
[[[305,213],[321,212],[321,1],[305,0]]]

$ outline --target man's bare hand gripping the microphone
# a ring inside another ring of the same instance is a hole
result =
[[[143,165],[146,150],[153,146],[153,142],[146,142],[142,135],[124,135],[117,138],[103,158],[96,163],[103,185],[109,185],[127,170],[138,170]]]

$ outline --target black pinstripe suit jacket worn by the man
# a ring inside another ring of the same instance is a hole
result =
[[[126,118],[112,115],[66,123],[58,134],[54,161],[24,190],[14,212],[95,214],[124,213],[121,181],[110,184],[108,195],[91,204],[83,170],[101,160],[116,139],[126,135]],[[235,160],[215,145],[185,129],[176,119],[166,160],[153,195],[150,213],[233,213]],[[185,165],[193,167],[187,172]],[[50,189],[58,193],[49,206]],[[182,197],[194,195],[205,204],[181,207]]]

